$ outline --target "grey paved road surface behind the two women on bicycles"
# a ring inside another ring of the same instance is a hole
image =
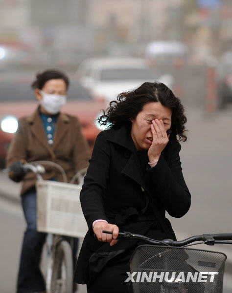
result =
[[[181,160],[187,185],[192,194],[189,212],[181,219],[171,218],[177,237],[232,232],[232,110],[215,115],[191,110],[187,113],[189,141],[183,143]],[[0,174],[0,193],[15,198],[19,186]],[[0,292],[14,292],[23,217],[14,203],[0,202]],[[203,248],[203,247],[202,247]],[[211,247],[204,247],[204,249]],[[228,255],[224,293],[232,292],[231,247],[216,247]],[[84,291],[83,291],[84,292]]]

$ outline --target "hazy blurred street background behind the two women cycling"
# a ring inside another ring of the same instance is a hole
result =
[[[168,84],[186,107],[181,160],[192,194],[186,216],[171,219],[174,229],[179,239],[231,232],[230,0],[0,0],[1,167],[18,118],[36,107],[30,83],[48,68],[69,74],[72,114],[91,147],[100,131],[93,120],[120,91]],[[0,172],[4,293],[15,290],[24,229],[19,188]],[[224,293],[232,291],[229,249],[217,247],[228,255]]]

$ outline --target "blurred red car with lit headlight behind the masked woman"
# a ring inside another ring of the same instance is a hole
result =
[[[0,77],[0,165],[4,162],[6,151],[18,128],[18,118],[30,115],[38,106],[30,87],[28,77]],[[89,93],[76,82],[70,82],[67,104],[62,111],[79,117],[83,133],[93,147],[100,132],[94,124],[103,105],[94,102]]]

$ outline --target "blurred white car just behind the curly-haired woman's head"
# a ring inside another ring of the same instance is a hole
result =
[[[142,58],[90,58],[78,67],[76,78],[93,98],[109,104],[119,93],[138,87],[144,82],[161,79],[156,68],[149,68]],[[170,78],[162,82],[171,86]]]

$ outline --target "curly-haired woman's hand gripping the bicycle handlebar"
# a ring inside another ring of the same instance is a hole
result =
[[[111,231],[112,234],[103,233],[102,230]],[[108,224],[106,222],[96,222],[93,227],[93,232],[96,235],[98,241],[103,242],[110,242],[110,246],[113,246],[117,243],[117,236],[118,236],[118,227],[113,224]]]

